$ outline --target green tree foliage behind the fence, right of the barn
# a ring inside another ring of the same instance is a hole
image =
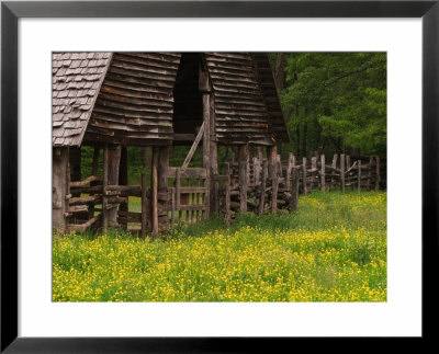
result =
[[[281,103],[299,156],[386,153],[386,54],[285,54]]]

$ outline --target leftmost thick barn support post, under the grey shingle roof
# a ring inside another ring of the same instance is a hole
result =
[[[53,230],[67,230],[67,189],[69,148],[54,148],[52,169],[52,227]]]

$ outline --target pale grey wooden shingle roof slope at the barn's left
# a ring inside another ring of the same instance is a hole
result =
[[[111,53],[54,53],[52,142],[80,146]]]

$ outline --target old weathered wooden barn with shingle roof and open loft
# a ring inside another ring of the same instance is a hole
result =
[[[238,209],[270,209],[266,186],[275,179],[277,145],[284,141],[267,54],[53,54],[54,229],[117,226],[157,235],[212,213],[229,220]],[[169,165],[178,145],[190,147],[188,156],[182,165]],[[91,175],[80,173],[83,146],[94,147]],[[139,185],[127,183],[128,146],[153,149]],[[203,164],[190,168],[198,146]],[[218,167],[219,146],[237,153]],[[259,151],[258,165],[250,150]],[[130,210],[130,197],[140,198],[142,212]],[[271,198],[275,209],[277,193]]]

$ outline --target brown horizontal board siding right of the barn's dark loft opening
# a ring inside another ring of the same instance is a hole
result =
[[[267,106],[249,53],[206,53],[215,98],[216,140],[222,144],[272,145]]]

